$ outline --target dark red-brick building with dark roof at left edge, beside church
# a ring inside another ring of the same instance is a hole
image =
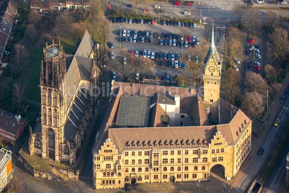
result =
[[[0,109],[0,138],[3,139],[3,142],[15,145],[25,125],[25,118]]]

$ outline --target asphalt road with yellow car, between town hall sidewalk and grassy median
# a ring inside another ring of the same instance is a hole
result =
[[[288,119],[288,116],[289,116],[289,100],[287,100],[284,103],[283,107],[280,104],[279,105],[279,110],[280,110],[280,112],[279,112],[277,118],[280,119],[280,123],[279,123],[277,128],[274,125],[272,126],[270,132],[268,133],[268,135],[267,135],[267,137],[265,139],[265,141],[263,142],[263,144],[261,146],[264,149],[263,155],[261,157],[257,157],[257,155],[252,155],[254,157],[253,162],[251,163],[251,165],[248,168],[248,170],[244,173],[244,175],[242,176],[242,178],[240,179],[238,184],[231,191],[232,193],[246,192],[248,190],[248,188],[251,186],[252,182],[257,177],[257,174],[259,173],[260,169],[262,168],[263,164],[266,161],[266,158],[267,158],[268,154],[270,153],[270,151],[272,150],[272,148],[273,148],[273,146],[275,144],[275,141],[276,141],[276,139],[278,137],[278,134],[279,134],[282,126],[284,125],[284,123]],[[267,124],[272,124],[272,123],[267,123]],[[254,141],[252,141],[252,145],[254,145]],[[284,158],[286,159],[286,156],[284,156]],[[286,167],[284,167],[284,169],[285,168]],[[275,179],[275,180],[277,181],[278,179]]]

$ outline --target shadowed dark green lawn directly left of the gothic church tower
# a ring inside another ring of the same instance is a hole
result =
[[[40,102],[40,66],[43,60],[43,48],[36,47],[32,50],[32,58],[29,68],[25,73],[24,85],[26,98],[32,101]]]

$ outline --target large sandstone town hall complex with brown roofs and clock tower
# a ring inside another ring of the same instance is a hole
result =
[[[203,80],[203,97],[192,88],[112,81],[115,102],[103,137],[93,149],[94,186],[205,181],[215,165],[222,166],[226,179],[234,178],[251,151],[252,121],[219,97],[221,62],[213,31]],[[131,122],[131,116],[141,119],[134,114],[145,109],[123,103],[131,96],[150,101],[146,127]],[[122,106],[134,113],[123,113]],[[131,125],[118,125],[121,119]]]

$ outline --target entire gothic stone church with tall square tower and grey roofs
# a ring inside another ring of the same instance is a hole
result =
[[[87,31],[74,55],[65,54],[60,42],[43,48],[41,118],[30,131],[30,155],[75,163],[101,93],[103,75],[97,52]]]

